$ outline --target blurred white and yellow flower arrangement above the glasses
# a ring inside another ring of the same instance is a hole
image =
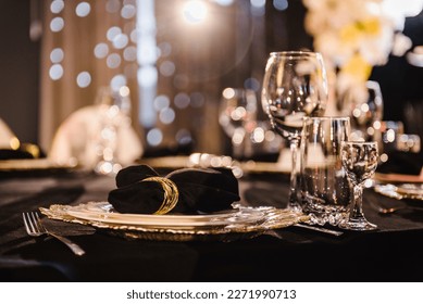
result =
[[[373,66],[385,64],[390,53],[402,55],[411,48],[411,40],[400,33],[405,9],[393,10],[393,4],[398,8],[401,0],[303,3],[308,9],[306,30],[313,36],[314,49],[322,53],[329,72],[336,71],[337,93],[363,88]]]

